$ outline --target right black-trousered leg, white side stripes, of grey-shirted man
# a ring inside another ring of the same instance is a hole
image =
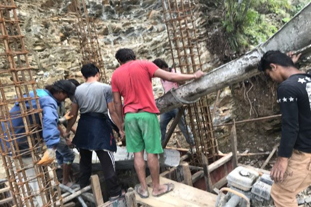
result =
[[[115,171],[115,159],[112,152],[97,150],[96,154],[104,173],[105,182],[109,190],[110,197],[120,195],[121,186],[118,183],[118,177]]]

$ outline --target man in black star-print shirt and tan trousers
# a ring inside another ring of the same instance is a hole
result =
[[[282,135],[271,196],[276,207],[297,207],[296,194],[311,184],[311,75],[295,68],[299,55],[266,52],[258,69],[281,83],[277,102],[282,113]]]

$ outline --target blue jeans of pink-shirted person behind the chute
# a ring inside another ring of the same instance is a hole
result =
[[[160,129],[161,129],[161,141],[163,142],[165,139],[165,134],[166,134],[166,127],[169,124],[169,122],[176,117],[178,113],[178,108],[175,108],[171,111],[165,112],[160,115]],[[190,130],[190,127],[187,125],[186,127],[186,121],[185,117],[182,115],[180,120],[178,121],[178,127],[180,131],[183,133],[184,137],[186,138],[186,141],[190,145],[194,145],[194,139],[193,139],[193,134]],[[187,133],[188,129],[188,133]],[[189,134],[189,136],[188,136]]]

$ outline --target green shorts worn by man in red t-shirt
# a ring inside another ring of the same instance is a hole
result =
[[[150,154],[163,153],[160,124],[156,114],[125,114],[125,140],[129,153],[138,153],[144,149]]]

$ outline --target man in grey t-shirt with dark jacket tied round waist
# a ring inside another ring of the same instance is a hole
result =
[[[77,119],[80,110],[76,134],[72,143],[80,152],[80,187],[89,185],[92,173],[92,151],[95,151],[103,168],[106,186],[109,190],[110,200],[121,196],[121,186],[115,171],[113,152],[117,151],[116,140],[108,118],[108,109],[112,121],[119,128],[121,137],[121,123],[115,112],[111,86],[99,83],[99,69],[94,64],[86,64],[81,73],[86,79],[84,84],[77,87],[70,115],[73,118],[68,121],[66,135],[69,135],[72,125]]]

